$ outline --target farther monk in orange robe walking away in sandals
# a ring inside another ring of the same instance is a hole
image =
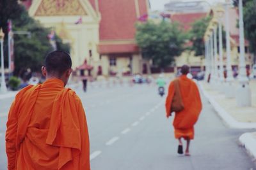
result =
[[[181,73],[182,75],[174,80],[179,82],[179,89],[175,89],[174,81],[170,83],[165,104],[166,117],[172,115],[171,106],[175,90],[180,90],[184,109],[175,113],[173,127],[175,138],[179,139],[178,153],[183,153],[182,138],[184,138],[187,141],[185,155],[189,156],[189,143],[191,139],[194,139],[194,125],[202,110],[202,102],[196,83],[186,76],[189,73],[189,67],[182,66]]]

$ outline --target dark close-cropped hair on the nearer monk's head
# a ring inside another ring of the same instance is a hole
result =
[[[71,68],[72,61],[67,52],[54,51],[48,53],[44,64],[48,74],[60,77]]]

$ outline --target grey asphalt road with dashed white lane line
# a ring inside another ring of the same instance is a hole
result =
[[[92,170],[246,170],[256,169],[238,138],[250,130],[229,129],[202,96],[191,157],[177,155],[172,120],[154,85],[94,87],[77,94],[90,132]],[[4,131],[13,98],[0,99],[0,169],[6,169]],[[6,113],[6,114],[3,114]]]

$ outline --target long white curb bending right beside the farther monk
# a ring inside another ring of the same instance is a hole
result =
[[[211,103],[214,110],[218,113],[218,115],[226,122],[226,124],[230,128],[234,128],[234,129],[256,129],[256,123],[238,122],[226,110],[224,110],[220,106],[220,104],[218,104],[215,101],[215,99],[206,92],[206,90],[204,90],[204,87],[202,87],[202,84],[200,82],[196,82],[196,83],[198,84],[198,87],[202,91],[202,94],[207,98],[209,103]]]

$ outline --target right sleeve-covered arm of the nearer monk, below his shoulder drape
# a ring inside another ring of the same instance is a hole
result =
[[[80,167],[84,170],[90,170],[90,141],[89,132],[86,122],[86,115],[84,112],[83,104],[78,98],[77,101],[77,116],[79,118],[79,126],[81,131],[81,159]]]

